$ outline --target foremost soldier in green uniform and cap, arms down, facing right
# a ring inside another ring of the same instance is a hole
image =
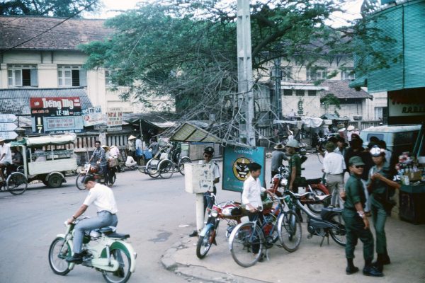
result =
[[[365,267],[363,275],[382,277],[383,274],[372,264],[373,260],[373,235],[369,229],[368,217],[365,216],[364,207],[366,202],[361,174],[365,163],[359,156],[351,157],[348,161],[350,178],[345,185],[345,203],[342,217],[346,224],[346,274],[351,275],[358,272],[358,267],[354,266],[354,249],[358,238],[363,242],[363,258]]]

